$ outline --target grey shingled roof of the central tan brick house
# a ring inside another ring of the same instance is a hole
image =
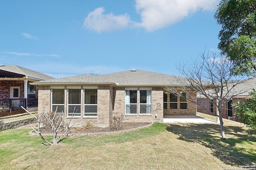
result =
[[[127,70],[100,76],[88,74],[34,82],[34,85],[58,84],[112,84],[113,86],[166,86],[178,85],[177,76],[148,72],[143,70]]]

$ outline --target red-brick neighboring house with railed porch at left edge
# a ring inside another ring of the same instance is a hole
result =
[[[53,79],[16,65],[0,65],[0,117],[24,113],[23,107],[37,107],[38,89],[31,82]]]

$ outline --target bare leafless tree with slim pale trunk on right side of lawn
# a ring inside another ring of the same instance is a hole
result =
[[[182,97],[181,92],[187,93],[190,102],[207,111],[210,111],[209,107],[198,102],[195,96],[203,96],[209,101],[215,98],[216,100],[212,102],[217,108],[215,115],[220,121],[222,139],[226,139],[222,121],[222,108],[233,97],[248,91],[248,88],[234,89],[236,85],[242,82],[244,76],[232,75],[234,65],[226,57],[215,52],[212,52],[212,57],[209,57],[209,53],[205,54],[205,52],[200,57],[200,60],[192,61],[192,64],[176,65],[183,77],[176,77],[176,80],[174,80],[179,85],[166,86],[165,89],[180,97]]]

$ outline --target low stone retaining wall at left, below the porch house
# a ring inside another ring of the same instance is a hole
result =
[[[4,122],[3,120],[0,120],[0,131],[4,131],[6,129],[16,129],[20,126],[29,125],[30,123],[36,122],[37,120],[34,117],[9,122]]]

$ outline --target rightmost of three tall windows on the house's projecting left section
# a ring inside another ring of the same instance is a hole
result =
[[[84,115],[97,116],[97,89],[84,89]]]

